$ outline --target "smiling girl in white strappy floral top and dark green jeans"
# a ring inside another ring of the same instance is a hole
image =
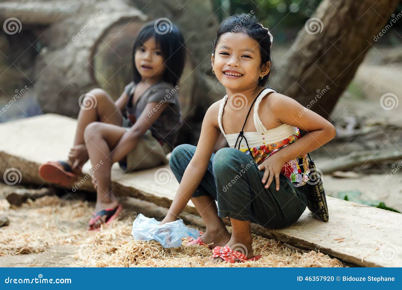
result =
[[[177,146],[170,157],[180,185],[162,224],[176,220],[191,199],[206,226],[191,243],[215,247],[215,262],[260,258],[253,253],[250,221],[278,229],[299,219],[307,204],[306,155],[336,134],[318,114],[265,87],[272,40],[254,16],[222,22],[211,63],[227,95],[207,110],[198,146]],[[302,138],[299,128],[308,132]],[[221,134],[230,148],[213,154]],[[231,234],[222,217],[230,218]]]

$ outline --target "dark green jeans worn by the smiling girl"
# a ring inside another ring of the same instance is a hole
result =
[[[172,151],[169,165],[179,183],[195,149],[182,144]],[[217,200],[219,217],[250,220],[269,229],[288,227],[306,209],[303,186],[294,187],[280,174],[279,191],[275,189],[275,179],[265,188],[261,182],[263,173],[250,155],[235,148],[222,148],[212,154],[193,197],[211,195]]]

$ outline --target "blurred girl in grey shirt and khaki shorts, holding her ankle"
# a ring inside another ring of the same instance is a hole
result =
[[[161,32],[156,24],[146,24],[135,40],[133,81],[119,99],[113,101],[103,89],[89,91],[68,159],[39,167],[44,180],[72,186],[90,158],[97,192],[90,230],[99,230],[121,211],[111,185],[113,163],[127,173],[166,164],[183,123],[176,90],[185,63],[184,39],[176,26],[167,23]]]

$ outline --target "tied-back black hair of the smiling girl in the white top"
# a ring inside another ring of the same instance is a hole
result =
[[[246,33],[249,37],[254,39],[260,47],[261,65],[271,61],[271,39],[268,30],[258,22],[256,16],[250,14],[234,14],[225,18],[216,32],[216,38],[213,43],[214,53],[220,37],[227,32]],[[265,87],[270,73],[271,70],[262,79],[258,79],[258,85]]]

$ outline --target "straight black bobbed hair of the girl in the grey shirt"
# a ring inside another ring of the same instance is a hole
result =
[[[176,25],[172,24],[167,18],[159,18],[148,22],[139,31],[131,56],[134,83],[141,81],[141,75],[135,67],[134,55],[151,37],[154,37],[156,44],[159,45],[164,64],[166,65],[162,80],[176,86],[183,73],[186,53],[183,35]]]

